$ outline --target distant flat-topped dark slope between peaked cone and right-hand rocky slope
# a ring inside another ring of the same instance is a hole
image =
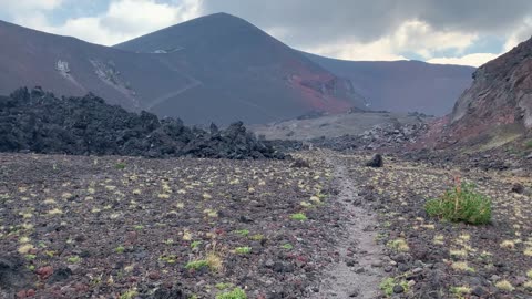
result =
[[[332,73],[349,79],[371,110],[444,115],[471,84],[474,68],[420,61],[345,61],[305,53]]]

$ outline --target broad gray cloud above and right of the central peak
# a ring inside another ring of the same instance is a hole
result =
[[[530,0],[203,0],[205,13],[225,11],[266,30],[286,32],[284,41],[313,47],[348,39],[370,42],[406,20],[434,30],[510,34],[532,16]]]

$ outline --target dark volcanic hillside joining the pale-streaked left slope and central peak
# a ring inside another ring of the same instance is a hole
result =
[[[364,105],[348,81],[228,14],[192,20],[117,48],[1,21],[0,40],[3,94],[21,85],[62,95],[93,92],[127,110],[194,124],[264,123]]]

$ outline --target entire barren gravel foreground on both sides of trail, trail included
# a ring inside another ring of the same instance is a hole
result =
[[[0,296],[531,298],[530,177],[296,156],[310,167],[2,154]],[[456,176],[492,198],[492,224],[424,214]]]

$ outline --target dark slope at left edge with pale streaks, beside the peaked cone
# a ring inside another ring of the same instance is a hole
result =
[[[155,55],[135,54],[0,21],[0,94],[41,85],[58,94],[93,92],[139,110],[193,81]],[[178,114],[176,111],[175,114]]]

